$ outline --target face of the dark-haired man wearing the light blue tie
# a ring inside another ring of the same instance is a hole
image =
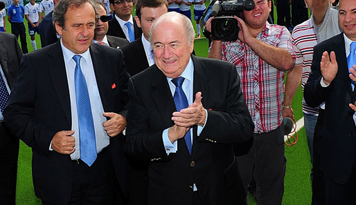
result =
[[[64,14],[64,28],[55,23],[55,29],[62,36],[63,46],[81,54],[88,50],[94,38],[95,10],[90,3],[75,8],[69,6]]]

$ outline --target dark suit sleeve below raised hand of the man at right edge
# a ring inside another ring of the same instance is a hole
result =
[[[326,101],[329,95],[331,84],[324,88],[321,86],[320,81],[323,77],[320,71],[320,61],[323,51],[314,46],[314,55],[312,60],[311,72],[307,84],[304,88],[304,99],[308,106],[315,108],[320,106],[323,101]]]

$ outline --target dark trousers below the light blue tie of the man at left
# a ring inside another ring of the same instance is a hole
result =
[[[90,167],[82,160],[73,161],[73,189],[69,205],[114,204],[116,179],[109,150],[98,154]],[[52,203],[42,201],[44,205]]]

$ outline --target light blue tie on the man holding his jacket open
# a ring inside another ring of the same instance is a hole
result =
[[[80,159],[88,166],[91,166],[96,159],[95,129],[93,115],[91,114],[87,81],[85,81],[85,77],[80,69],[80,58],[80,55],[73,56],[76,64],[74,83],[79,124]]]

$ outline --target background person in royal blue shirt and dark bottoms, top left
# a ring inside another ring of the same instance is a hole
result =
[[[28,53],[24,26],[24,6],[19,4],[19,0],[12,0],[12,5],[8,8],[8,21],[11,23],[11,33],[17,39],[20,36],[22,53]]]

